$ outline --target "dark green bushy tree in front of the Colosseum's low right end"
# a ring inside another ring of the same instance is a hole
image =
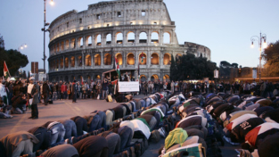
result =
[[[193,54],[180,56],[175,62],[171,56],[170,79],[189,80],[213,78],[213,71],[217,68],[215,62],[207,61],[203,57],[195,57]]]

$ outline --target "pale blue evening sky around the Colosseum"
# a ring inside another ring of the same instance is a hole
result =
[[[87,9],[97,0],[53,0],[46,5],[46,21],[62,13]],[[164,0],[171,20],[176,21],[179,44],[185,41],[205,45],[211,50],[211,61],[236,62],[242,67],[258,66],[258,41],[250,48],[250,37],[267,35],[267,43],[279,40],[278,0]],[[18,49],[29,62],[39,62],[43,69],[44,0],[1,0],[0,34],[5,49]],[[46,56],[49,34],[46,33]],[[48,62],[45,64],[48,71]],[[30,70],[30,63],[23,70]]]

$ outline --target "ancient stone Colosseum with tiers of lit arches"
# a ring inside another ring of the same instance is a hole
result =
[[[163,0],[116,0],[89,4],[83,12],[66,12],[49,26],[49,79],[101,78],[113,69],[137,78],[168,79],[171,54],[192,53],[210,60],[210,49],[179,45],[175,21]],[[139,65],[138,65],[139,64]]]

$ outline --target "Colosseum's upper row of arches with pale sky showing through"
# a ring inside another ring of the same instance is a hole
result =
[[[150,37],[149,37],[150,36]],[[162,40],[162,41],[160,41]],[[96,33],[93,36],[88,35],[85,37],[70,38],[65,41],[53,44],[50,47],[50,53],[56,54],[61,51],[72,49],[72,48],[83,48],[98,45],[120,45],[120,44],[170,44],[171,34],[169,32],[160,33],[158,31],[153,31],[148,35],[145,31],[140,32],[138,35],[134,31],[128,31],[127,34],[123,34],[122,31],[118,31],[115,34],[108,33]]]

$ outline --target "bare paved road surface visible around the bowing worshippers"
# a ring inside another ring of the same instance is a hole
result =
[[[144,95],[136,95],[135,98],[144,97]],[[31,111],[24,114],[13,114],[12,119],[0,119],[0,138],[7,134],[21,130],[29,130],[30,128],[41,126],[47,121],[54,120],[69,120],[74,116],[85,116],[95,110],[106,110],[113,108],[120,103],[107,103],[104,100],[78,99],[78,103],[71,103],[71,100],[57,100],[53,104],[47,106],[38,104],[39,118],[37,120],[28,119],[31,116]],[[149,145],[149,149],[142,155],[143,157],[158,156],[159,148],[164,145],[164,139],[161,139],[158,144]],[[237,154],[234,149],[239,146],[232,146],[226,143],[224,147],[220,147],[224,157],[235,157]]]

